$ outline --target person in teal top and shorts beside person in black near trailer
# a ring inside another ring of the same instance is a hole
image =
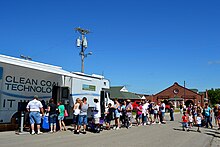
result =
[[[65,112],[65,106],[61,103],[58,102],[58,111],[59,111],[59,115],[58,115],[58,121],[59,121],[59,127],[60,127],[60,131],[64,130],[66,131],[66,125],[64,123],[64,112]]]

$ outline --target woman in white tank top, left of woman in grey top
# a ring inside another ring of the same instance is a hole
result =
[[[73,128],[74,134],[79,134],[78,122],[79,122],[79,113],[80,113],[80,98],[76,99],[75,104],[73,105]]]

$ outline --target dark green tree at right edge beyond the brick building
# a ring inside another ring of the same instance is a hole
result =
[[[212,105],[220,104],[220,89],[208,90],[208,98]]]

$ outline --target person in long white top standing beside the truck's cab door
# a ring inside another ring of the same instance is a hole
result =
[[[94,122],[94,131],[95,133],[99,133],[101,128],[100,128],[100,117],[101,117],[101,108],[100,108],[100,103],[98,98],[94,98],[94,103],[95,107],[93,110],[93,122]]]

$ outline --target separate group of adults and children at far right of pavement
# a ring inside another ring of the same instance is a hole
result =
[[[220,130],[220,105],[218,104],[215,105],[213,109],[209,107],[208,103],[205,103],[204,107],[192,104],[189,104],[188,107],[181,105],[180,113],[183,113],[182,127],[184,131],[185,128],[189,131],[189,128],[193,126],[198,127],[198,132],[201,132],[200,127],[202,126],[212,129],[212,119],[215,120],[215,125],[217,125],[218,130]],[[214,113],[214,118],[212,113]]]

